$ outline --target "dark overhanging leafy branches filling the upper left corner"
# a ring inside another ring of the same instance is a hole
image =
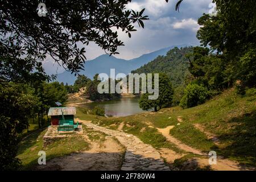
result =
[[[0,7],[0,83],[50,79],[46,56],[72,73],[83,69],[86,46],[96,43],[110,55],[123,46],[117,29],[131,37],[134,23],[144,27],[144,9],[125,8],[129,0],[48,1],[38,16],[37,1],[2,1]],[[79,47],[79,44],[83,47]]]

